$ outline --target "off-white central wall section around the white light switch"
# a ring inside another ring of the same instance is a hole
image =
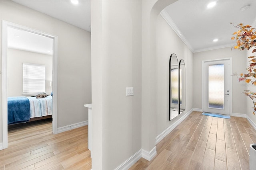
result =
[[[141,1],[92,1],[91,11],[92,169],[113,170],[141,149]]]

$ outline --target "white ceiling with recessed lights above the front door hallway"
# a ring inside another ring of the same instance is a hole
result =
[[[216,5],[207,8],[214,1]],[[248,4],[250,8],[242,11]],[[230,38],[238,29],[230,22],[256,27],[256,0],[178,0],[161,14],[191,51],[206,51],[234,45]]]

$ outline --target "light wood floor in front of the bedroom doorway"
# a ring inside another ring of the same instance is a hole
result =
[[[52,123],[8,131],[8,148],[0,150],[0,170],[90,170],[87,126],[57,135]]]

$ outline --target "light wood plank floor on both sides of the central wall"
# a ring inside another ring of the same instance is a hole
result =
[[[245,118],[222,119],[194,111],[156,146],[150,162],[141,158],[130,170],[248,170],[249,145],[256,131]],[[51,123],[8,131],[0,150],[0,170],[90,170],[87,126],[52,134]]]

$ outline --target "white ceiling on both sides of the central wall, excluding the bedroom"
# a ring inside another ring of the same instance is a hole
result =
[[[12,1],[90,31],[90,0],[78,0],[77,5],[70,0]],[[208,9],[213,1],[216,6]],[[250,8],[242,11],[248,4]],[[256,0],[178,0],[161,15],[192,52],[206,51],[234,45],[230,37],[237,29],[230,22],[256,27]]]

